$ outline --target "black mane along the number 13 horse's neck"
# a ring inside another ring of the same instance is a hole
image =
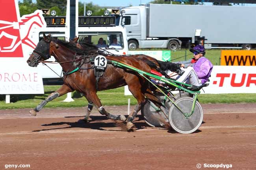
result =
[[[87,55],[87,54],[94,52],[90,49],[85,49],[85,50],[79,49],[76,47],[76,44],[72,41],[58,40],[53,37],[51,37],[50,40],[52,40],[53,42],[55,42],[57,44],[61,44],[62,46],[66,47],[72,51],[75,51],[76,54],[78,54],[78,55],[84,55],[84,54]]]

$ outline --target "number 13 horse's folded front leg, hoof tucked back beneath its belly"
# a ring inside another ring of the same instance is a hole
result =
[[[120,121],[125,121],[125,116],[124,115],[112,115],[110,113],[108,113],[104,107],[102,106],[100,99],[98,98],[98,95],[96,94],[96,91],[88,91],[88,93],[86,93],[88,99],[91,99],[91,101],[95,104],[98,112],[100,112],[100,114],[102,115],[106,115],[109,119],[112,120],[120,120]]]

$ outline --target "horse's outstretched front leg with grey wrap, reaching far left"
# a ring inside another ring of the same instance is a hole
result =
[[[30,114],[33,116],[37,115],[37,112],[42,110],[42,108],[53,99],[65,95],[66,93],[72,92],[74,90],[70,89],[69,86],[63,84],[58,90],[51,93],[44,101],[42,101],[39,105],[37,105],[33,110],[30,111]]]

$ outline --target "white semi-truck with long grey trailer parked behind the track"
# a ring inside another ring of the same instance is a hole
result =
[[[121,9],[119,25],[126,27],[130,50],[175,50],[188,47],[198,37],[206,38],[206,48],[252,49],[256,46],[254,16],[256,7],[248,6],[146,4]]]

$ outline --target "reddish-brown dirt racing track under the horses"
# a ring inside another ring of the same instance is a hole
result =
[[[127,113],[125,106],[105,108]],[[138,117],[136,132],[122,132],[96,109],[87,124],[77,122],[85,108],[46,108],[36,117],[29,109],[0,110],[0,170],[196,170],[198,163],[255,170],[256,104],[202,108],[205,123],[193,134],[151,128]]]

